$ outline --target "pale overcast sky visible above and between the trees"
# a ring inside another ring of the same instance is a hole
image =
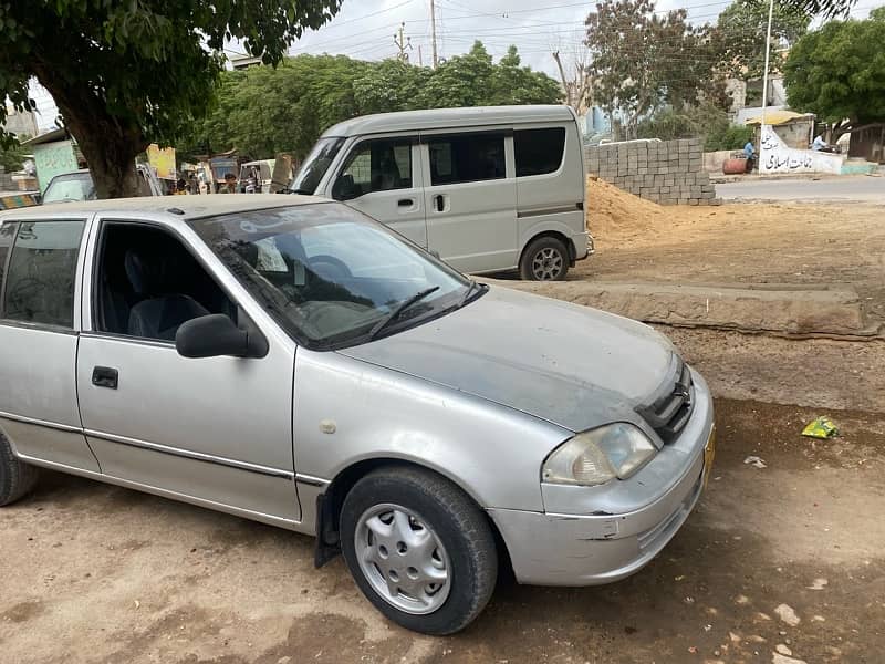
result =
[[[689,20],[701,24],[716,21],[730,0],[658,0],[657,10],[688,9]],[[865,18],[883,0],[858,0],[852,15]],[[573,61],[584,35],[584,19],[594,2],[575,0],[436,0],[437,44],[440,58],[466,52],[475,40],[486,44],[498,60],[510,44],[516,44],[522,63],[559,80],[551,52],[559,50],[563,62]],[[405,22],[412,38],[412,62],[431,62],[430,0],[344,0],[332,21],[309,31],[290,50],[299,53],[343,53],[362,60],[383,60],[397,53],[394,33]],[[764,34],[759,35],[764,40]],[[240,50],[241,53],[241,50]],[[231,44],[228,55],[236,56]],[[58,111],[49,94],[34,86],[41,129],[54,127]]]

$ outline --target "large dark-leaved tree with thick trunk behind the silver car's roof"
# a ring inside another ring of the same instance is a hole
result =
[[[134,195],[135,156],[204,114],[226,41],[270,64],[341,0],[0,2],[0,84],[20,110],[34,76],[52,94],[102,198]],[[0,124],[6,107],[0,106]],[[11,138],[2,134],[8,143]]]

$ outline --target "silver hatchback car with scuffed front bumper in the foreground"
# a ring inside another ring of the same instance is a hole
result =
[[[0,222],[0,505],[42,467],[312,535],[391,620],[449,634],[501,564],[636,572],[710,471],[710,393],[664,336],[479,284],[342,204]]]

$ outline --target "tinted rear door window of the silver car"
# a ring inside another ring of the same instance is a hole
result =
[[[19,224],[7,273],[3,318],[73,328],[74,274],[85,224]]]

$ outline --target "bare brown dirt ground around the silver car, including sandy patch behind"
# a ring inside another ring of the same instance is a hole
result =
[[[632,226],[626,208],[597,216],[577,276],[848,281],[885,312],[883,208],[648,208]],[[0,663],[885,661],[885,341],[662,331],[714,390],[718,449],[697,510],[634,577],[506,582],[430,639],[381,618],[341,559],[314,570],[310,538],[46,474],[0,510]],[[799,435],[823,414],[840,437]]]

